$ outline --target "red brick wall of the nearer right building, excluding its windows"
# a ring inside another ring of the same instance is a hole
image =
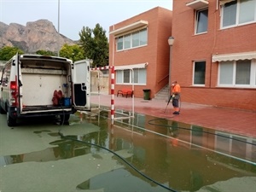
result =
[[[212,55],[256,50],[256,23],[220,29],[220,9],[216,0],[209,0],[208,30],[195,35],[195,10],[187,0],[173,0],[172,80],[182,87],[182,101],[222,108],[256,111],[256,89],[219,88],[218,62]],[[193,61],[206,61],[206,84],[193,86]]]

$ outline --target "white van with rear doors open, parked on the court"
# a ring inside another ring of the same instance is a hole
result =
[[[90,111],[90,60],[17,54],[4,65],[0,113],[7,113],[9,126],[36,116],[67,122],[76,110]]]

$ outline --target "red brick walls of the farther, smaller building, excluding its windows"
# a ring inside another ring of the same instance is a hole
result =
[[[160,7],[150,9],[110,26],[109,31],[130,25],[137,20],[148,21],[148,45],[116,52],[115,47],[113,48],[113,35],[110,35],[109,65],[117,67],[148,62],[147,84],[135,85],[134,95],[143,97],[143,89],[150,89],[150,97],[153,98],[156,92],[168,84],[169,45],[167,39],[172,36],[172,11]],[[115,84],[115,94],[125,86],[131,87],[131,85]]]

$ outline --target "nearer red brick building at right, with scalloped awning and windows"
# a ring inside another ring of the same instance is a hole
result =
[[[256,111],[256,0],[173,0],[182,101]]]

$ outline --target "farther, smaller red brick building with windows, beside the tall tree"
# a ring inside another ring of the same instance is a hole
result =
[[[160,7],[109,27],[109,66],[115,68],[115,95],[124,87],[134,86],[134,96],[143,97],[147,89],[153,98],[168,84],[167,39],[171,34],[172,11]]]

